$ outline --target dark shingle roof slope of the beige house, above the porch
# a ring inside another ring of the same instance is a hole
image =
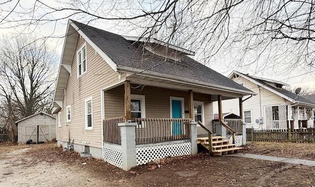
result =
[[[107,54],[118,67],[122,66],[148,70],[155,73],[252,92],[188,56],[182,58],[180,62],[176,62],[172,59],[165,59],[159,55],[154,55],[143,48],[140,49],[139,45],[134,45],[135,41],[126,40],[120,35],[85,25],[74,20],[71,21],[79,27],[94,44]],[[156,64],[159,64],[163,60],[166,60],[165,63],[156,66]]]

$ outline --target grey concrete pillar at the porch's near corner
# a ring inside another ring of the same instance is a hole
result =
[[[128,171],[137,166],[136,160],[136,122],[118,123],[121,136],[122,170]]]

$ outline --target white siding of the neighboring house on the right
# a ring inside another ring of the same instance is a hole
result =
[[[253,82],[250,82],[243,77],[233,78],[233,80],[239,84],[243,84],[244,87],[257,93],[256,96],[243,102],[243,111],[251,111],[251,123],[246,125],[246,128],[254,127],[255,129],[266,129],[266,117],[265,107],[266,106],[277,106],[277,105],[291,105],[292,103],[281,98],[275,93],[260,87]],[[247,98],[244,97],[243,99]],[[260,101],[261,100],[261,101]],[[224,100],[222,101],[222,111],[233,112],[239,115],[239,104],[238,99]],[[217,102],[213,102],[213,113],[218,113]],[[256,119],[263,117],[264,123],[262,125],[256,123]]]

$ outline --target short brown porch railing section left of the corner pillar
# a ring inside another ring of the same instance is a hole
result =
[[[120,144],[121,137],[118,123],[121,122],[124,122],[124,116],[107,118],[103,120],[105,142]]]

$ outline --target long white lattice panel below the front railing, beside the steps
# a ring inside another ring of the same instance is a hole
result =
[[[191,154],[191,151],[192,151],[191,142],[156,145],[148,147],[137,147],[136,148],[137,166],[166,157],[188,155]]]

